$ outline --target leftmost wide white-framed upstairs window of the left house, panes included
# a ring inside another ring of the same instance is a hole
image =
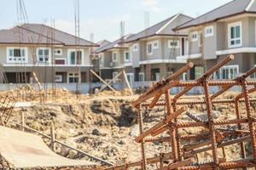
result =
[[[7,63],[27,63],[27,48],[6,48]]]

